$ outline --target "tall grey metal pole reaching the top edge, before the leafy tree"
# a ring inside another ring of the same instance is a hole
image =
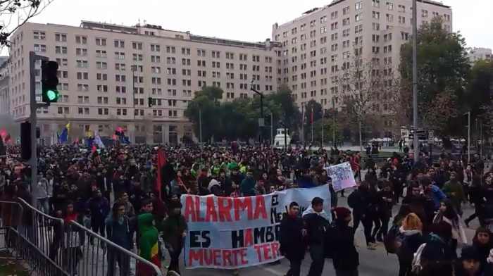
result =
[[[413,0],[413,126],[418,129],[418,4]],[[414,161],[419,160],[419,141],[418,135],[414,135]]]

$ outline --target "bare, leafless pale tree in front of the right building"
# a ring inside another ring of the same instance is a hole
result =
[[[353,54],[347,56],[337,77],[339,101],[342,101],[344,119],[358,125],[358,140],[363,151],[363,123],[369,115],[380,111],[384,83],[392,77],[391,68],[380,65],[375,56],[363,58],[361,44],[354,44]]]

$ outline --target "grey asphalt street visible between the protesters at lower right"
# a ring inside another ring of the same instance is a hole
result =
[[[347,197],[340,197],[338,206],[349,208],[347,205]],[[392,215],[396,215],[399,211],[400,205],[397,204],[392,210]],[[469,207],[466,204],[466,208],[463,210],[463,218],[468,218],[469,215],[474,213],[474,208]],[[479,227],[478,220],[474,220],[470,223],[470,228],[466,228],[463,225],[464,231],[466,232],[466,237],[468,239],[468,244],[471,243],[475,229]],[[366,249],[365,237],[363,234],[363,225],[360,224],[356,232],[356,244],[358,244],[359,253],[359,275],[360,276],[395,276],[399,273],[399,262],[397,261],[397,256],[389,254],[385,251],[382,244],[378,244],[376,250]],[[460,249],[458,249],[460,251]],[[183,263],[183,262],[181,262]],[[307,275],[308,269],[310,268],[311,259],[308,254],[305,256],[305,260],[301,265],[301,275]],[[213,275],[232,275],[232,271],[228,270],[214,270],[214,269],[204,269],[197,268],[194,270],[187,270],[185,268],[181,269],[182,276],[213,276]],[[283,259],[280,264],[266,264],[258,265],[252,268],[242,268],[239,270],[241,276],[284,276],[289,270],[289,261]],[[333,265],[330,261],[325,261],[325,268],[323,276],[335,276],[335,271]]]

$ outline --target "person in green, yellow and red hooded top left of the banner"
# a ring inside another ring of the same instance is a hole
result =
[[[159,244],[158,235],[159,232],[154,227],[154,215],[151,213],[144,213],[139,215],[139,256],[144,258],[161,269],[161,258],[159,256]],[[149,276],[155,275],[156,270],[146,263],[137,263],[137,275]]]

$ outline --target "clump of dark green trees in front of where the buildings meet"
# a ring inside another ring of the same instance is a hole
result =
[[[219,87],[203,87],[195,92],[185,116],[192,122],[196,137],[199,139],[201,115],[203,142],[256,139],[260,132],[260,96],[222,101],[223,94],[223,89]],[[265,127],[262,137],[265,141],[270,141],[272,129],[275,133],[278,127],[286,125],[288,130],[297,130],[300,113],[287,87],[280,87],[277,92],[263,96],[263,117]]]

